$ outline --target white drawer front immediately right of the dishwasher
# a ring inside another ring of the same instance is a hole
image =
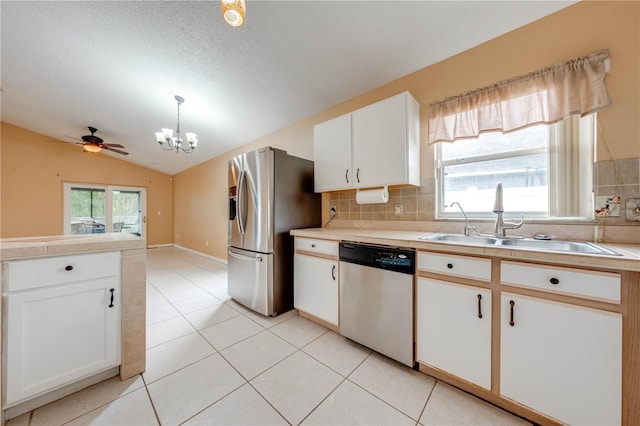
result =
[[[491,281],[491,260],[478,257],[418,252],[418,270]]]

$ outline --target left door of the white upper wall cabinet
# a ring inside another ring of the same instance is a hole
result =
[[[314,185],[316,192],[353,187],[351,170],[351,114],[313,128]]]

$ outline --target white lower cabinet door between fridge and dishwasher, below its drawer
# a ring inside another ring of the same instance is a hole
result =
[[[293,304],[296,309],[338,324],[338,262],[294,256]]]

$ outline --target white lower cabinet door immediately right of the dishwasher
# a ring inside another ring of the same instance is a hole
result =
[[[418,361],[491,389],[491,291],[418,279]]]

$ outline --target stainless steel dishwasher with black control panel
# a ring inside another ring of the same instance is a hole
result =
[[[410,367],[415,250],[340,243],[340,334]]]

